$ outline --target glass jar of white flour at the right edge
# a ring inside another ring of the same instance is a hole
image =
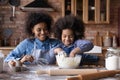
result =
[[[120,48],[108,48],[105,56],[105,68],[108,70],[120,69]]]

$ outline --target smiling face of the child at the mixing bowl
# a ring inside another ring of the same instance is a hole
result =
[[[62,30],[62,42],[65,46],[69,46],[74,42],[74,35],[71,29]]]

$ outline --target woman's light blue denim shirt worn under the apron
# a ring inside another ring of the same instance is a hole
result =
[[[42,54],[42,58],[45,58],[49,61],[49,64],[55,63],[55,55],[53,49],[60,42],[56,39],[47,38],[44,42],[41,42],[39,39],[25,39],[23,40],[14,50],[12,50],[7,57],[4,59],[4,62],[8,62],[10,60],[19,60],[24,55],[32,54],[32,50],[34,48],[34,43],[36,43],[36,49],[41,49],[42,52],[46,52],[46,54]],[[49,57],[47,57],[49,56]]]

